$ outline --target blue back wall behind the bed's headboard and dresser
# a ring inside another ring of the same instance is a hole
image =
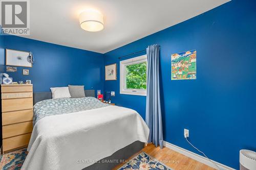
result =
[[[68,84],[103,90],[103,54],[17,36],[5,36],[5,47],[33,53],[32,68],[17,67],[17,72],[7,74],[16,82],[31,80],[34,91]],[[23,69],[29,69],[28,76]]]

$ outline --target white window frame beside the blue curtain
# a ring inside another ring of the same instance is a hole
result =
[[[126,66],[146,62],[146,55],[134,57],[131,59],[120,61],[120,94],[144,95],[146,96],[146,89],[127,89],[126,88]]]

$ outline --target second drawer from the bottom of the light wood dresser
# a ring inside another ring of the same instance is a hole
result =
[[[33,130],[32,121],[3,126],[3,138],[30,133]]]

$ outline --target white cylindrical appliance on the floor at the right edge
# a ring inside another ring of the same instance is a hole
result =
[[[240,150],[240,169],[256,169],[256,152]]]

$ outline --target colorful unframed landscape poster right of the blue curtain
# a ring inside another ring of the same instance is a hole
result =
[[[197,79],[197,51],[172,54],[171,67],[172,80]]]

